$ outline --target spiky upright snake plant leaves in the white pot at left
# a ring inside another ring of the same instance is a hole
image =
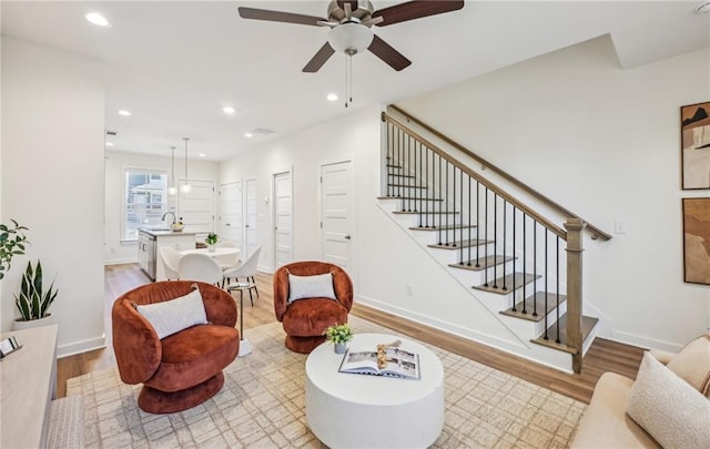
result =
[[[42,283],[42,264],[37,261],[37,267],[32,267],[32,262],[27,263],[27,269],[22,275],[20,284],[20,294],[14,295],[14,304],[20,310],[21,318],[14,320],[16,328],[31,327],[23,323],[34,322],[42,318],[49,318],[51,314],[47,310],[57,298],[57,289],[54,289],[54,280],[44,292]]]

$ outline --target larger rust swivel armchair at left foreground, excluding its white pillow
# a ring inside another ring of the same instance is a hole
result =
[[[207,324],[160,339],[133,305],[178,298],[192,292],[193,284],[200,288]],[[240,347],[234,299],[204,283],[171,280],[138,287],[113,303],[112,319],[121,380],[143,384],[138,405],[151,414],[182,411],[210,399],[222,388],[222,369]]]

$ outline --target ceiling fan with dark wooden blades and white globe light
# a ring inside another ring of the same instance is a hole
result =
[[[378,38],[373,32],[372,25],[386,27],[408,20],[456,11],[462,8],[464,8],[463,0],[424,0],[408,1],[375,11],[373,3],[366,0],[331,0],[328,2],[327,19],[245,7],[240,7],[239,11],[240,17],[243,19],[331,28],[327,42],[321,47],[321,50],[318,50],[303,68],[304,72],[314,73],[317,72],[336,51],[352,57],[364,50],[369,50],[394,70],[403,70],[412,64],[412,61]]]

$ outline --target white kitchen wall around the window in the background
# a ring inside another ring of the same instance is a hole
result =
[[[170,154],[170,149],[166,149]],[[180,157],[180,151],[175,151],[175,177],[184,177],[184,157]],[[121,222],[123,220],[124,204],[124,172],[125,169],[144,169],[163,171],[168,174],[169,184],[172,176],[172,163],[170,155],[155,156],[121,151],[106,151],[105,160],[105,229],[104,229],[104,261],[106,264],[125,264],[138,261],[135,242],[122,242]],[[215,188],[219,186],[219,163],[201,160],[189,160],[189,176],[192,181],[212,181]],[[175,182],[178,185],[178,181]],[[216,195],[215,195],[216,198]],[[178,196],[169,197],[169,207],[178,207]],[[216,211],[215,200],[215,211]]]

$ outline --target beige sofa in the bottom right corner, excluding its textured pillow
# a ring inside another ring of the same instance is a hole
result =
[[[699,397],[710,398],[710,335],[691,341],[678,355],[660,350],[651,350],[650,354],[669,370],[688,381],[693,390],[700,392]],[[640,373],[639,370],[639,375]],[[615,373],[605,373],[599,378],[589,407],[582,415],[571,442],[572,449],[661,447],[627,414],[633,385],[633,380]],[[682,409],[682,405],[680,408]],[[708,414],[709,409],[703,410],[701,414]],[[658,438],[652,427],[647,426],[647,428]],[[700,440],[701,447],[710,447],[710,440],[708,440],[710,437],[707,431],[693,431],[693,435],[696,441]],[[708,446],[704,446],[704,442],[708,442]]]

